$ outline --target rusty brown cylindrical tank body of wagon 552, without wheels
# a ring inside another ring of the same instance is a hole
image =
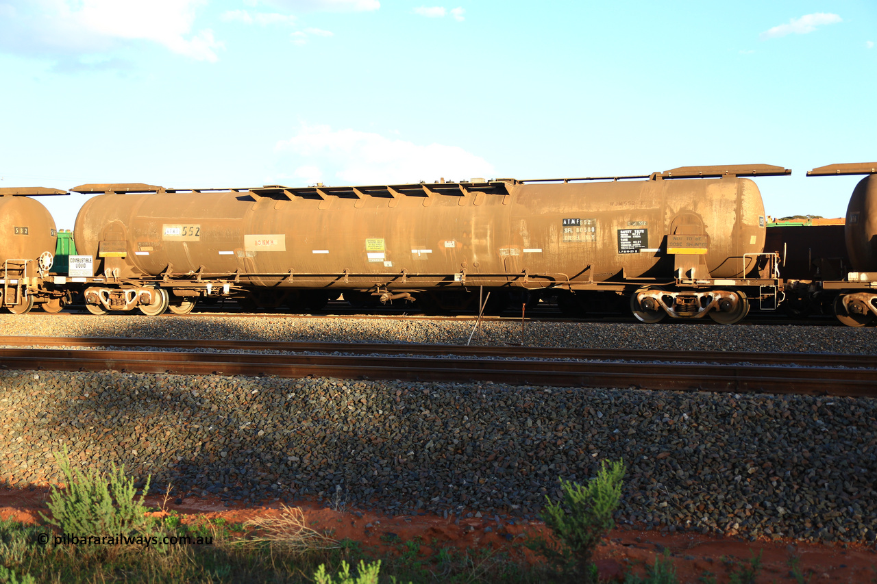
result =
[[[83,185],[73,190],[126,194],[82,206],[76,248],[95,256],[97,274],[118,268],[120,277],[159,276],[170,266],[174,274],[256,274],[250,282],[262,286],[539,288],[672,278],[667,237],[684,232],[702,238],[707,253],[698,261],[712,277],[742,277],[753,263],[745,254],[763,247],[765,214],[754,183],[731,173],[780,167],[703,167],[697,175],[712,168],[725,178],[214,193]],[[685,168],[668,172],[679,177]],[[124,242],[124,257],[102,257],[102,242]]]

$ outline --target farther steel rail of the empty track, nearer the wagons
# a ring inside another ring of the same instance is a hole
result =
[[[694,363],[760,364],[804,367],[872,367],[877,374],[877,355],[843,353],[753,353],[742,351],[669,351],[659,349],[583,349],[545,346],[417,345],[408,343],[330,343],[261,340],[118,337],[21,337],[0,336],[8,346],[132,346],[185,348],[196,344],[215,351],[283,351],[288,353],[356,353],[460,355],[466,357],[536,358],[543,360],[684,361]]]

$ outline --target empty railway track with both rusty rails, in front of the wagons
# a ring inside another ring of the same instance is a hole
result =
[[[687,391],[877,396],[877,356],[810,353],[624,351],[545,347],[461,347],[337,343],[197,341],[188,351],[25,348],[175,348],[191,340],[0,337],[0,364],[16,369],[136,373],[308,375],[410,381],[492,381],[554,387],[636,387]],[[274,350],[286,353],[249,353]],[[305,354],[305,352],[307,354]],[[316,353],[316,354],[314,354]],[[338,354],[355,353],[355,354]],[[374,354],[379,353],[379,354]],[[829,367],[831,366],[831,367]]]

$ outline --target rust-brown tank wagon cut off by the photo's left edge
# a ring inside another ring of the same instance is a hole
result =
[[[0,189],[0,303],[24,314],[37,303],[48,312],[63,308],[62,297],[46,292],[43,276],[52,267],[56,245],[52,214],[32,196],[67,195],[43,187]]]

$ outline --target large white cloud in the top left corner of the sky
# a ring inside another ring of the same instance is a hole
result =
[[[196,61],[217,61],[223,44],[213,32],[192,32],[196,10],[204,4],[207,0],[8,0],[0,48],[68,56],[146,40]]]

